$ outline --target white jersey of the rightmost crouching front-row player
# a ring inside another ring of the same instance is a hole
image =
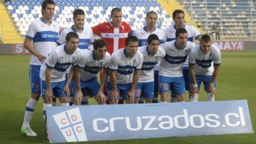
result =
[[[195,65],[194,72],[196,75],[212,75],[214,72],[213,65],[221,64],[220,48],[212,44],[211,51],[205,54],[200,45],[196,45],[190,52],[188,63]]]

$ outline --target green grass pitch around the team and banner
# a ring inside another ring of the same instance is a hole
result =
[[[27,137],[20,133],[29,90],[30,56],[0,55],[0,143],[45,143],[42,141],[43,117],[40,99],[31,127],[38,134]],[[222,52],[215,100],[247,99],[252,126],[256,130],[256,53]],[[205,101],[205,92],[200,92]],[[186,94],[186,101],[188,96]],[[95,100],[90,99],[90,104]],[[224,134],[215,136],[164,137],[154,139],[106,140],[80,143],[256,143],[256,134]]]

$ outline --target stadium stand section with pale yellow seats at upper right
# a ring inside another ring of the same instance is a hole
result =
[[[249,39],[250,36],[256,36],[256,1],[222,0],[221,5],[220,1],[215,0],[208,0],[207,3],[203,0],[178,2],[189,13],[192,11],[193,19],[201,23],[206,31],[211,29],[212,24],[222,23],[223,39]]]

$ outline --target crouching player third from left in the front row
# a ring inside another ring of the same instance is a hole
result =
[[[129,36],[126,47],[115,51],[109,63],[109,77],[107,82],[108,99],[111,104],[117,104],[123,96],[126,103],[134,103],[135,87],[142,68],[143,55],[138,51],[139,41],[136,36]]]

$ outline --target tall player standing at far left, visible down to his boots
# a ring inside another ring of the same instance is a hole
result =
[[[24,41],[24,47],[31,53],[29,78],[31,84],[31,99],[26,105],[25,116],[21,131],[27,136],[36,136],[29,123],[40,97],[39,71],[46,56],[52,48],[56,47],[59,37],[59,24],[53,19],[55,4],[52,0],[42,2],[42,17],[29,26],[28,33]],[[33,41],[33,44],[31,42]]]

